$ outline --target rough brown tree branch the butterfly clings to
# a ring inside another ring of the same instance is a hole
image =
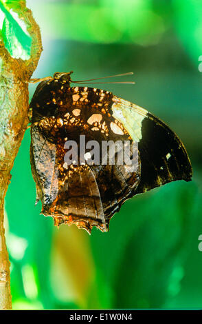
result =
[[[3,228],[3,205],[5,193],[10,183],[10,170],[21,145],[27,128],[29,107],[28,81],[36,69],[41,55],[41,34],[32,17],[32,12],[25,7],[25,1],[15,10],[25,21],[27,31],[32,37],[30,59],[13,59],[0,42],[0,309],[11,308],[10,262],[5,245]]]

